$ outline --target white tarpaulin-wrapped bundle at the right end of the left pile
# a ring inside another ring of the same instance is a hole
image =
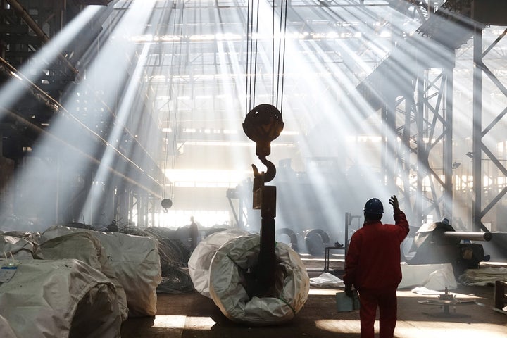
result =
[[[41,243],[71,232],[88,232],[101,242],[109,264],[127,296],[129,317],[156,314],[156,287],[162,280],[158,242],[150,237],[119,232],[50,227]]]

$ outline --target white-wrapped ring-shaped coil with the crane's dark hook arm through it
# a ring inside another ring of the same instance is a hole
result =
[[[251,299],[244,288],[244,275],[256,265],[260,237],[249,234],[230,240],[215,253],[210,266],[209,291],[220,311],[235,322],[272,325],[294,318],[310,289],[306,268],[299,255],[287,244],[277,243],[275,255],[284,268],[280,295]]]

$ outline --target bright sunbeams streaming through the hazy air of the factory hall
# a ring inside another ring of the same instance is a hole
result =
[[[45,98],[54,118],[15,173],[13,182],[43,182],[42,192],[20,184],[25,197],[5,204],[2,215],[42,218],[39,230],[68,221],[103,227],[114,218],[176,229],[198,213],[204,227],[258,230],[258,213],[249,210],[251,164],[263,165],[242,122],[249,104],[280,94],[285,130],[270,154],[283,166],[274,181],[280,227],[301,239],[318,228],[331,242],[346,241],[345,213],[361,215],[366,199],[399,194],[415,227],[451,215],[472,230],[474,160],[463,156],[474,144],[471,26],[446,6],[433,8],[435,20],[448,18],[441,24],[452,34],[437,36],[416,17],[427,15],[420,8],[303,2],[85,6],[0,92],[7,114],[25,82],[46,81],[48,63],[63,56],[80,70],[61,97]],[[95,42],[82,32],[90,20],[100,23]],[[485,45],[502,34],[501,27],[481,29]],[[81,39],[86,50],[70,57]],[[484,54],[484,72],[503,76],[504,42],[497,40]],[[482,81],[486,205],[505,184],[498,116],[506,99],[492,74]],[[43,160],[49,149],[58,158]],[[232,191],[241,194],[230,199]],[[132,200],[121,202],[120,193]],[[171,199],[170,210],[156,206],[162,198]],[[484,223],[495,229],[503,206],[488,211]]]

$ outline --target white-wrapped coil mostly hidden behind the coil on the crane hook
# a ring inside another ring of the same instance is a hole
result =
[[[203,239],[192,252],[188,262],[189,275],[194,283],[194,288],[208,298],[209,294],[209,267],[216,251],[223,244],[239,236],[244,236],[248,232],[244,230],[224,230],[210,234]]]

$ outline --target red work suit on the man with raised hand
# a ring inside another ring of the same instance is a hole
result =
[[[401,282],[400,245],[408,234],[403,211],[394,211],[396,225],[365,222],[354,232],[345,261],[344,284],[354,285],[361,308],[361,338],[373,338],[377,306],[380,338],[392,338],[396,327],[396,289]]]

